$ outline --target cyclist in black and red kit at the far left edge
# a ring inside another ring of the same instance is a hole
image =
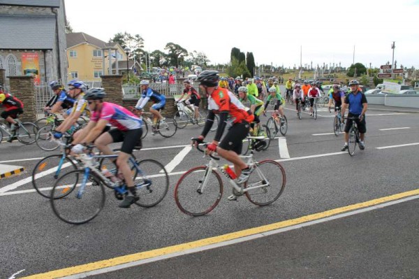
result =
[[[0,105],[3,105],[4,110],[0,116],[10,123],[10,131],[16,131],[19,124],[15,121],[17,115],[23,113],[23,103],[20,99],[6,93],[3,85],[0,83]],[[10,137],[8,142],[11,143],[15,137]]]

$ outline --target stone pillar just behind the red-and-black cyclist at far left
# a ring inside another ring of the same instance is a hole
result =
[[[22,121],[36,120],[36,102],[34,78],[31,76],[8,76],[10,80],[10,93],[23,103],[24,113],[20,116]]]

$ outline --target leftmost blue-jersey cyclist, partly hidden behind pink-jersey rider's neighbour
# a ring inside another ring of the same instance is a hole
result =
[[[64,118],[66,118],[71,113],[75,99],[68,96],[64,86],[57,80],[52,81],[50,87],[52,92],[54,92],[54,96],[47,102],[44,111],[49,110],[50,113],[61,113],[62,109],[67,109],[66,113],[63,113]]]

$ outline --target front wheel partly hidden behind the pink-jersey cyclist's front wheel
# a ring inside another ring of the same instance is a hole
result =
[[[61,163],[61,169],[59,169],[61,159],[63,162]],[[62,168],[62,166],[64,166],[64,168]],[[71,168],[66,169],[67,166],[71,166]],[[50,199],[52,186],[59,176],[76,169],[76,164],[69,157],[63,157],[62,154],[47,156],[36,163],[34,170],[32,171],[32,185],[38,194]],[[45,175],[41,177],[37,176],[38,173],[44,174],[44,171]],[[40,188],[45,185],[51,185],[51,187]]]

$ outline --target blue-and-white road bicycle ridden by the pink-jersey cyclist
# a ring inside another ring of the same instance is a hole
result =
[[[105,186],[112,189],[116,199],[124,199],[128,194],[124,180],[112,181],[112,178],[116,179],[117,170],[109,170],[112,177],[107,177],[95,164],[95,161],[116,159],[117,156],[77,155],[84,169],[60,176],[52,187],[50,201],[54,214],[68,224],[84,224],[93,220],[105,205]],[[153,159],[135,160],[130,157],[129,161],[135,189],[140,197],[135,204],[144,208],[156,206],[168,192],[169,176],[166,169]]]

